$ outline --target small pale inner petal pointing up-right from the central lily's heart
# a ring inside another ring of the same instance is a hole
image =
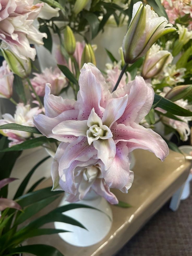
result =
[[[127,94],[122,98],[111,99],[103,114],[103,124],[111,128],[113,123],[123,115],[127,106],[127,100]]]

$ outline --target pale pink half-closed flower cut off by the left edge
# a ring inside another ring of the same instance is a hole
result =
[[[3,61],[3,65],[0,67],[0,98],[11,98],[13,80],[13,72],[10,71],[7,62]]]

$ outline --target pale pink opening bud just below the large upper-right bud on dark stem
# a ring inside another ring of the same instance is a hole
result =
[[[159,75],[163,68],[171,63],[173,57],[168,51],[160,51],[160,46],[152,45],[148,50],[143,62],[142,76],[144,79],[149,79]]]

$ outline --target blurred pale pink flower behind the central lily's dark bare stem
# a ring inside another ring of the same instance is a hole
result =
[[[116,82],[119,78],[119,75],[121,74],[121,68],[120,68],[121,62],[119,62],[118,64],[115,64],[115,65],[106,64],[106,67],[107,67],[106,82],[107,82],[109,91],[112,92],[112,90],[115,87]],[[129,74],[129,72],[126,72],[126,74],[125,73],[123,74],[122,79],[119,82],[118,88],[125,86],[129,82],[131,82],[131,75]]]

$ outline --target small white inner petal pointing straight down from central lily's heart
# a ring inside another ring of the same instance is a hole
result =
[[[116,153],[113,138],[109,138],[108,140],[95,140],[93,141],[93,146],[97,149],[97,156],[104,163],[105,170],[107,170],[112,164]]]

